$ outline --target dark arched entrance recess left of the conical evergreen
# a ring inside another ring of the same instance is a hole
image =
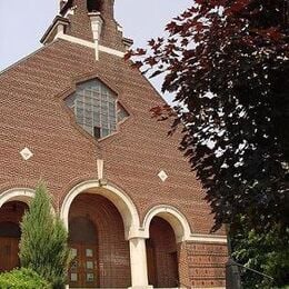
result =
[[[21,201],[9,201],[0,208],[0,272],[20,266],[20,221],[28,206]]]

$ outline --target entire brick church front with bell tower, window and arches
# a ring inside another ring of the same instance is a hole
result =
[[[225,288],[205,191],[151,118],[162,98],[123,54],[113,0],[67,0],[43,47],[0,73],[0,271],[44,180],[74,256],[70,288]]]

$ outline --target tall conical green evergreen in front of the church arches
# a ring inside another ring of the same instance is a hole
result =
[[[52,288],[64,287],[70,260],[68,233],[51,211],[50,197],[41,183],[21,222],[20,261],[48,280]]]

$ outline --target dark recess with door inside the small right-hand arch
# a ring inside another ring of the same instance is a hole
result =
[[[162,218],[155,217],[147,240],[149,285],[157,288],[179,286],[177,242],[173,229]]]

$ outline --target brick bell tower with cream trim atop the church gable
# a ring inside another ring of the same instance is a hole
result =
[[[60,0],[59,7],[59,16],[41,39],[43,44],[59,38],[87,43],[94,47],[96,60],[101,47],[126,52],[132,44],[114,20],[114,0]]]

